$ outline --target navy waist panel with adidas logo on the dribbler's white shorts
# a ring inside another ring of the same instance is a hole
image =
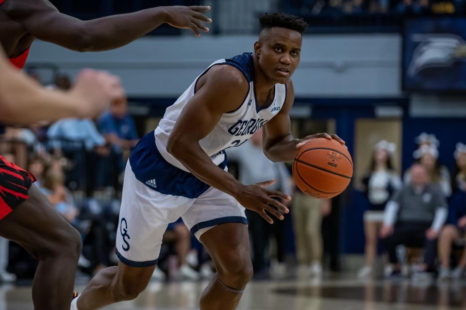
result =
[[[193,199],[210,188],[210,185],[200,181],[192,173],[168,163],[155,145],[153,131],[139,140],[129,160],[136,179],[161,194]],[[218,167],[223,170],[226,166],[225,156]]]

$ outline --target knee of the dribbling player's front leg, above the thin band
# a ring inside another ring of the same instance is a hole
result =
[[[250,258],[224,263],[223,268],[217,268],[218,276],[226,285],[234,289],[243,289],[252,278],[252,263]]]

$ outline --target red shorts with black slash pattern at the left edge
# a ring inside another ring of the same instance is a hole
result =
[[[0,156],[0,220],[29,198],[33,174]]]

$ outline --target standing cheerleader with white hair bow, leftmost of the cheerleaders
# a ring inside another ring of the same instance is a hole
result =
[[[385,204],[392,194],[401,189],[402,186],[401,178],[392,164],[392,155],[395,150],[394,143],[386,140],[378,142],[374,147],[369,171],[362,179],[364,191],[369,200],[369,209],[364,213],[366,265],[359,270],[359,278],[367,278],[372,275]]]

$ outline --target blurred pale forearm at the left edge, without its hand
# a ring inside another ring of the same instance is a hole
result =
[[[48,91],[14,68],[0,74],[0,120],[30,124],[80,115],[80,100],[60,91]]]

